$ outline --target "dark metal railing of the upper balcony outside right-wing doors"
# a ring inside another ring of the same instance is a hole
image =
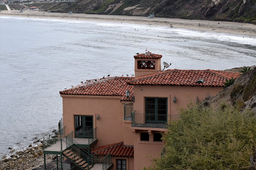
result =
[[[167,128],[168,121],[179,119],[179,115],[131,113],[131,127]]]

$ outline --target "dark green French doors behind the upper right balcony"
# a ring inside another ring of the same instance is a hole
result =
[[[167,122],[167,98],[145,98],[145,122]]]

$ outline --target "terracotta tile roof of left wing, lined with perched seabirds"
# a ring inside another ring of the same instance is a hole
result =
[[[60,91],[62,95],[97,95],[97,96],[122,96],[121,101],[133,100],[133,85],[127,82],[134,77],[109,77],[104,79],[88,80],[86,83],[77,85],[71,89]],[[125,97],[127,89],[131,92],[130,97]]]

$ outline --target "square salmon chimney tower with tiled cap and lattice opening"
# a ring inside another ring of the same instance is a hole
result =
[[[161,70],[162,55],[153,54],[149,51],[143,54],[134,55],[135,59],[135,79],[141,75],[157,73]]]

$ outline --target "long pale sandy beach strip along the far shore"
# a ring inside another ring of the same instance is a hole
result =
[[[177,18],[147,18],[141,16],[112,16],[94,14],[66,14],[53,12],[2,11],[0,16],[20,16],[36,18],[58,18],[71,20],[96,20],[104,22],[122,22],[143,25],[168,26],[171,28],[185,28],[191,30],[214,31],[220,33],[256,36],[256,25],[239,22],[221,22],[207,20],[183,20]]]

